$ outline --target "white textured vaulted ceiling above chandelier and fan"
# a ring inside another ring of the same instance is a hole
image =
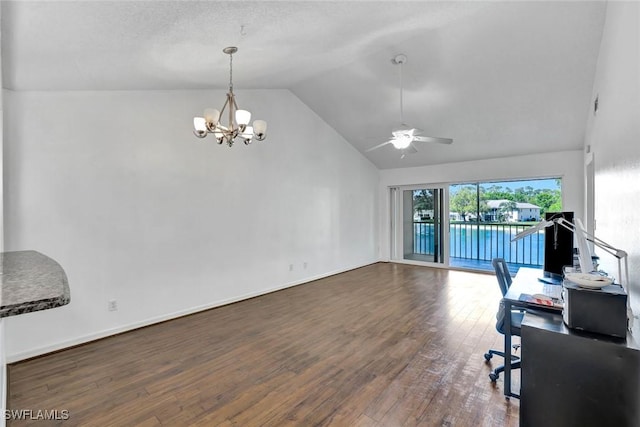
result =
[[[291,90],[380,168],[582,147],[603,2],[3,1],[11,90]],[[453,145],[400,159],[405,121]],[[249,106],[250,108],[250,106]]]

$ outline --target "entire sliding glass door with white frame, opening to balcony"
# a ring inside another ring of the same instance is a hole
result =
[[[391,188],[391,259],[470,270],[491,260],[541,267],[544,232],[513,237],[562,211],[560,178]]]

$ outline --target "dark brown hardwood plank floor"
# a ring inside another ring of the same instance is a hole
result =
[[[9,425],[517,426],[483,358],[499,298],[491,275],[374,264],[12,364],[10,409],[69,419]]]

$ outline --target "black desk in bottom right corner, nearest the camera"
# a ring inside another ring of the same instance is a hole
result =
[[[559,314],[522,321],[520,427],[640,426],[640,347],[569,329]]]

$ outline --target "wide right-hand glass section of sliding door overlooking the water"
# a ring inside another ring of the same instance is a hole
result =
[[[491,260],[542,267],[544,233],[517,242],[513,236],[562,211],[561,180],[535,179],[449,186],[449,265],[491,269]]]

